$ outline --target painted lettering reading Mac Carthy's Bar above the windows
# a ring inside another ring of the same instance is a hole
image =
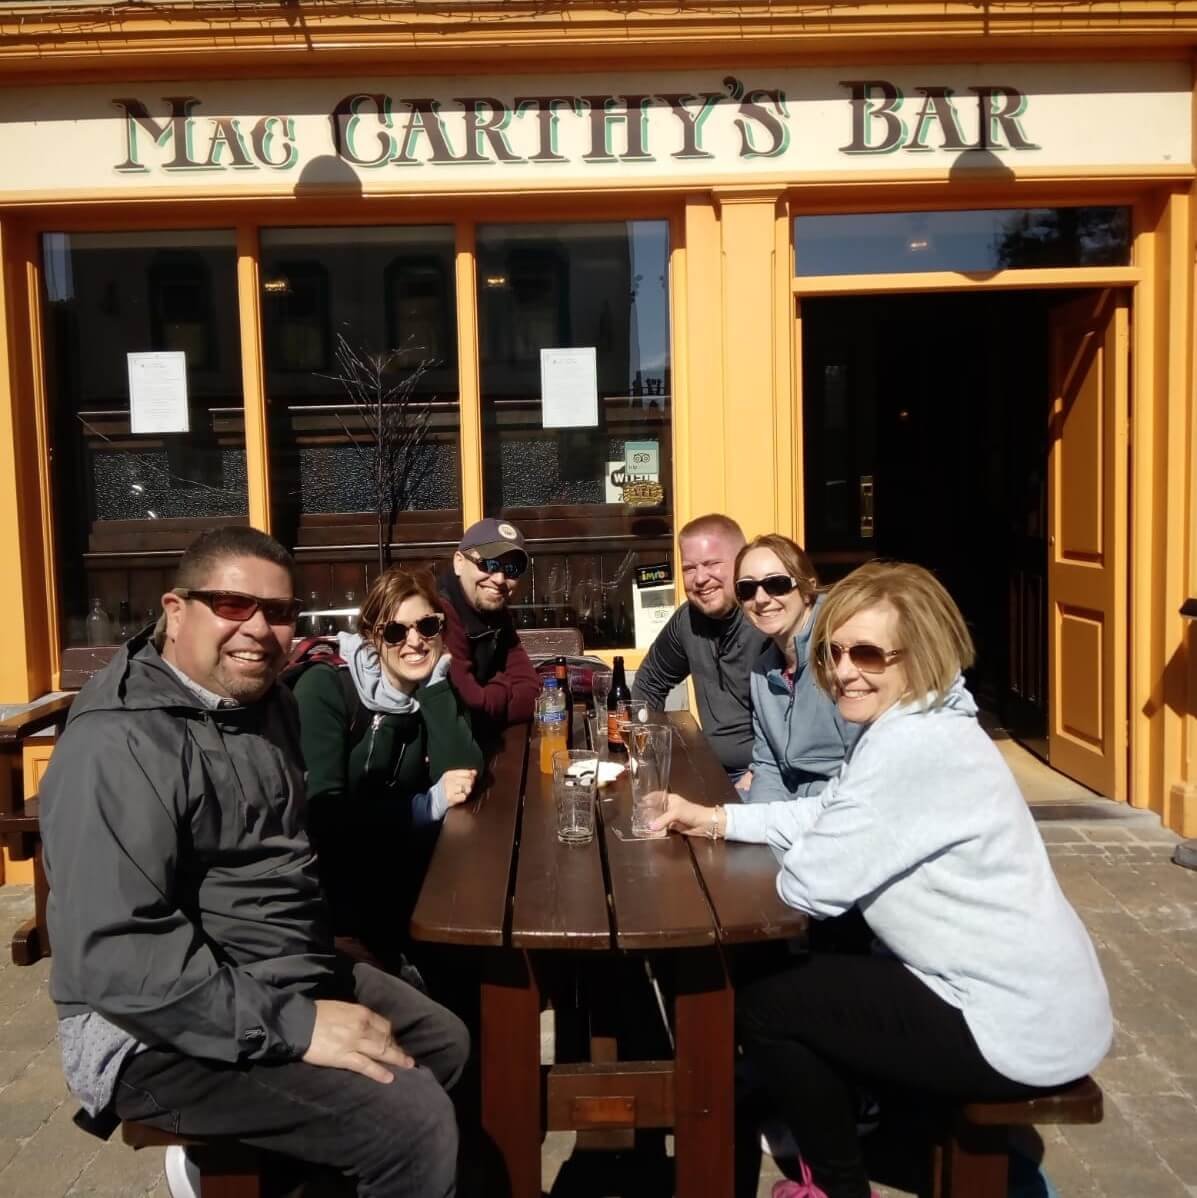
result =
[[[967,92],[925,85],[912,95],[885,79],[841,80],[845,155],[895,151],[1038,150],[1022,123],[1027,97],[1015,87],[980,85]],[[721,157],[780,158],[794,122],[778,87],[745,87],[734,77],[724,91],[640,95],[429,96],[361,91],[328,115],[328,141],[301,149],[294,116],[207,116],[195,96],[165,96],[169,113],[151,115],[139,98],[113,101],[122,113],[122,173],[289,170],[301,157],[331,153],[358,170],[537,163],[702,162],[719,127]],[[665,114],[651,121],[651,114]],[[729,125],[730,122],[730,125]]]

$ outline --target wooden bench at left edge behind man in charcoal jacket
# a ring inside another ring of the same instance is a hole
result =
[[[31,966],[49,956],[50,939],[46,928],[46,900],[49,888],[42,867],[42,835],[37,810],[36,781],[41,778],[50,750],[71,712],[74,695],[55,695],[32,707],[0,720],[0,843],[10,861],[34,863],[34,915],[12,937],[12,960]],[[40,760],[31,763],[26,776],[25,749],[37,733],[46,746]],[[29,785],[26,785],[29,783]]]

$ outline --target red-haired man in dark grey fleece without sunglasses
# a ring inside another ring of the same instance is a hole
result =
[[[631,697],[660,708],[670,690],[694,678],[702,732],[738,781],[752,760],[749,676],[768,642],[736,603],[736,555],[744,533],[730,516],[691,520],[678,533],[687,601],[660,630],[640,664]]]

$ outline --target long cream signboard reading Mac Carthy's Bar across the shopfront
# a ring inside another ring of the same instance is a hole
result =
[[[0,196],[1179,167],[1189,97],[1159,62],[10,89]]]

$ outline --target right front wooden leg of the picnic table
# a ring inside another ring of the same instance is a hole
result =
[[[676,1192],[733,1192],[734,994],[718,949],[677,954]]]

